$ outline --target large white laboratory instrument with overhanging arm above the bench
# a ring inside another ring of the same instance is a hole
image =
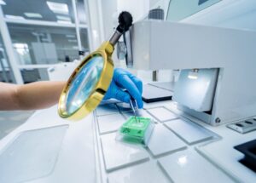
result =
[[[190,70],[188,77],[183,76],[185,71],[181,72],[174,89],[174,100],[182,105],[184,112],[212,125],[256,115],[255,31],[155,20],[137,22],[132,31],[135,68]],[[195,69],[198,72],[192,73]],[[198,78],[189,78],[189,74]],[[203,75],[207,79],[201,79],[205,78]],[[200,89],[203,85],[207,85],[204,89],[208,91]],[[186,97],[188,100],[184,100]],[[201,106],[194,106],[191,100],[201,102],[196,104]]]

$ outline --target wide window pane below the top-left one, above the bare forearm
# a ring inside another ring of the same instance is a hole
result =
[[[8,24],[8,27],[20,65],[55,64],[79,59],[75,28],[17,24]]]

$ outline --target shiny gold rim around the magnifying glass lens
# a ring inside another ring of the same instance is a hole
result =
[[[89,60],[96,55],[100,55],[103,58],[104,65],[102,69],[102,74],[99,81],[96,83],[95,89],[91,92],[87,100],[84,101],[83,105],[80,106],[75,112],[68,114],[66,111],[66,98],[67,92],[69,91],[71,84],[73,83],[74,78],[79,74],[86,64],[89,63]],[[113,61],[110,56],[106,53],[106,50],[100,49],[89,54],[87,57],[82,60],[79,66],[73,71],[72,75],[67,80],[67,84],[61,92],[61,97],[58,105],[58,113],[62,118],[68,118],[71,120],[79,120],[87,116],[90,112],[94,111],[96,107],[101,103],[104,94],[108,90],[108,86],[111,83],[113,77]]]

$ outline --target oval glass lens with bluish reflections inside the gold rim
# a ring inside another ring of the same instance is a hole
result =
[[[70,83],[66,97],[66,112],[68,115],[77,111],[79,107],[83,106],[84,101],[89,98],[101,77],[103,66],[104,60],[102,56],[92,57],[81,68],[73,82]]]

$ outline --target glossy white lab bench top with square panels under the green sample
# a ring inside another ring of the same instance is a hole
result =
[[[130,115],[114,103],[80,122],[61,119],[56,106],[35,112],[0,140],[0,182],[256,182],[233,148],[254,140],[256,131],[212,127],[174,102],[156,102],[144,104],[142,115],[155,123],[144,147],[116,140]]]

